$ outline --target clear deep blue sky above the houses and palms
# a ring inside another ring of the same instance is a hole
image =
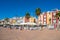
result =
[[[23,17],[26,12],[36,16],[36,8],[40,8],[42,12],[60,9],[60,0],[0,0],[0,19]]]

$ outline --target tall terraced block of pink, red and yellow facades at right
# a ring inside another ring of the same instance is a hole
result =
[[[59,10],[43,12],[42,14],[38,16],[38,24],[42,24],[42,25],[53,24],[54,26],[57,26],[58,19],[55,17],[55,15],[58,13],[58,11]]]

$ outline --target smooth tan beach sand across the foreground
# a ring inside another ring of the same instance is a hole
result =
[[[60,31],[19,30],[0,27],[0,40],[60,40]]]

